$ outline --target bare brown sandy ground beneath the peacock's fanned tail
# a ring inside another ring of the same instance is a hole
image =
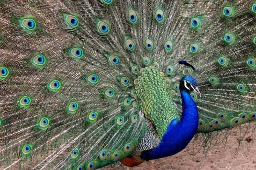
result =
[[[207,156],[202,147],[190,144],[174,156],[144,162],[137,167],[117,165],[101,170],[256,170],[256,132],[251,130],[233,129],[227,143],[212,146]]]

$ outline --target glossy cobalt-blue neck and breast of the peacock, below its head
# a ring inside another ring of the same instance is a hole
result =
[[[181,120],[172,120],[158,146],[153,150],[143,152],[142,159],[150,160],[175,155],[183,150],[196,134],[198,126],[197,105],[187,90],[180,89],[180,93],[183,110]]]

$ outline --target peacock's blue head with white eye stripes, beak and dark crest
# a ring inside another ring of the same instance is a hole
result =
[[[191,68],[194,68],[194,66],[192,66],[191,64],[187,63],[187,61],[179,61],[180,64],[184,64],[185,66],[189,66]],[[200,97],[201,97],[201,93],[197,87],[197,81],[196,79],[192,76],[192,75],[185,75],[180,82],[180,88],[187,90],[187,91],[194,91],[195,93],[197,93]]]

